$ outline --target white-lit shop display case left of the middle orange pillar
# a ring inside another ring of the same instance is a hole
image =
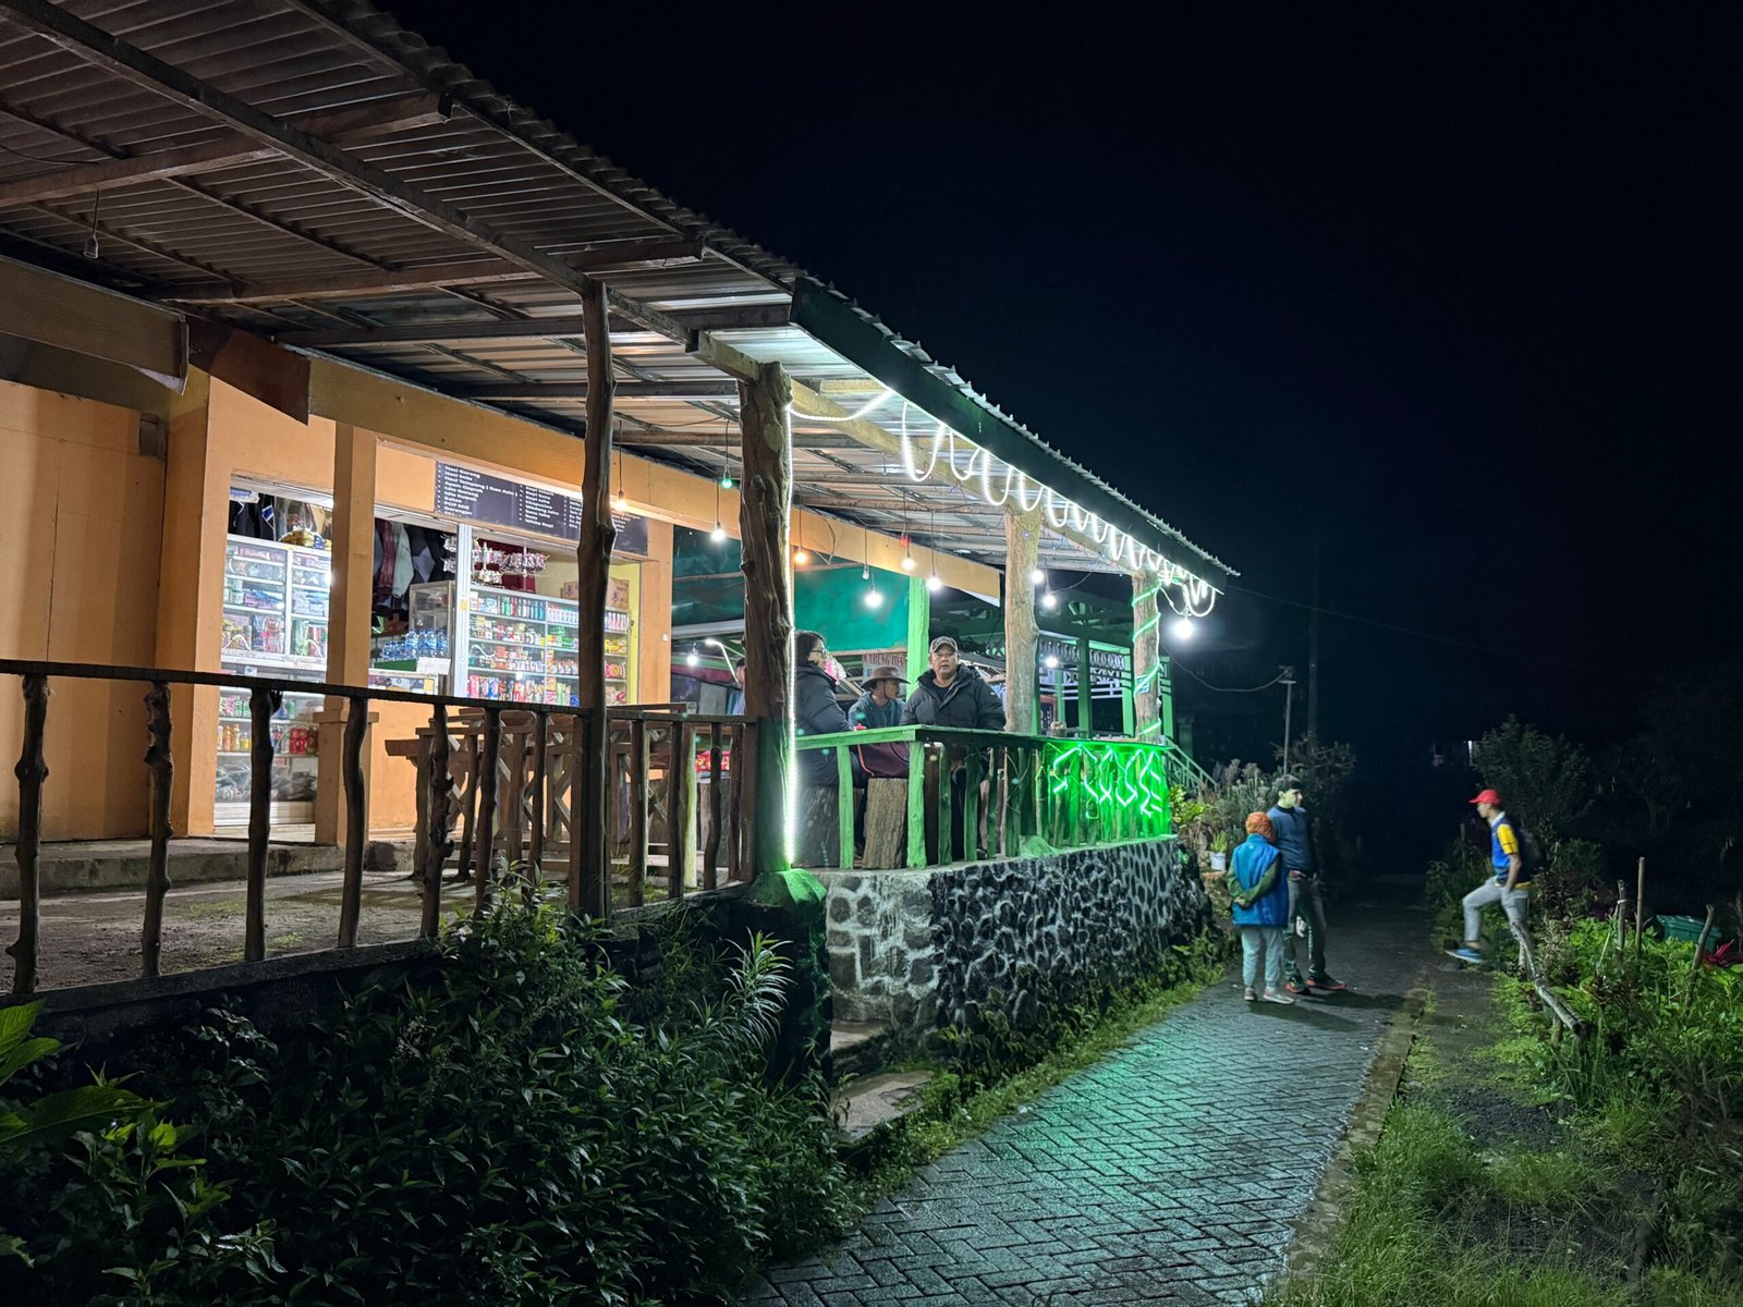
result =
[[[248,537],[225,542],[220,660],[239,676],[326,680],[326,551]],[[272,821],[314,821],[315,713],[322,697],[288,690],[272,720]],[[248,823],[253,718],[246,690],[218,694],[218,775],[213,821]]]

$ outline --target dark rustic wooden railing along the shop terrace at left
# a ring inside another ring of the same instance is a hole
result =
[[[410,758],[417,774],[413,878],[420,882],[422,936],[439,931],[443,870],[450,859],[457,861],[460,880],[472,880],[478,904],[485,903],[505,873],[532,877],[561,868],[566,871],[570,906],[580,910],[584,903],[603,903],[607,915],[617,906],[612,885],[617,870],[627,880],[627,903],[641,904],[650,868],[659,870],[662,864],[666,894],[680,897],[692,880],[702,889],[715,889],[739,880],[741,870],[751,863],[755,803],[743,800],[753,800],[753,795],[741,795],[727,782],[732,774],[755,775],[756,734],[755,723],[746,718],[688,716],[682,704],[610,709],[612,866],[594,868],[582,864],[586,840],[575,838],[572,817],[579,725],[584,720],[573,708],[228,673],[16,659],[0,659],[0,676],[19,676],[24,695],[23,753],[14,769],[19,786],[19,929],[16,943],[7,948],[14,958],[14,993],[33,993],[40,974],[42,796],[49,781],[45,741],[51,728],[51,687],[56,680],[136,681],[148,687],[145,767],[150,786],[150,861],[141,934],[145,978],[157,976],[162,967],[164,899],[171,887],[174,685],[244,690],[249,695],[244,962],[267,957],[272,721],[286,692],[319,694],[329,701],[345,701],[347,706],[338,767],[345,795],[338,948],[357,943],[370,831],[363,758],[373,702],[418,704],[431,713],[429,725],[420,727],[415,739],[387,742],[389,756]],[[697,803],[697,749],[702,751],[708,777],[706,805]],[[699,812],[706,814],[706,830],[697,868]],[[720,877],[722,857],[725,882]]]

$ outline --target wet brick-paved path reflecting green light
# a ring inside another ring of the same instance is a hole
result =
[[[1206,990],[743,1302],[1255,1300],[1424,965],[1421,939],[1393,906],[1340,904],[1330,960],[1360,992],[1250,1009],[1238,986]],[[1236,1129],[1243,1100],[1250,1131]]]

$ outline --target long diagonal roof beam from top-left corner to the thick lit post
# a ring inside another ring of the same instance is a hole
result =
[[[497,254],[546,281],[580,295],[589,279],[535,246],[497,232],[488,223],[455,206],[410,186],[378,167],[352,159],[329,141],[274,119],[270,113],[202,82],[183,68],[85,23],[49,0],[0,0],[0,12],[35,31],[44,40],[77,54],[80,59],[146,87],[185,108],[211,115],[253,141],[275,146],[281,153],[324,173],[335,181],[368,195],[387,209],[420,227],[437,230],[455,240]],[[668,340],[688,343],[692,333],[668,314],[605,288],[607,307]]]

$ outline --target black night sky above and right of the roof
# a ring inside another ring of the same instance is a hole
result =
[[[1604,742],[1731,648],[1743,9],[389,7],[1238,568],[1206,680],[1306,678],[1260,596],[1323,530],[1379,626],[1323,619],[1321,732],[1370,762]],[[1177,692],[1281,737],[1281,690]]]

